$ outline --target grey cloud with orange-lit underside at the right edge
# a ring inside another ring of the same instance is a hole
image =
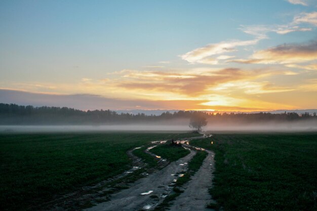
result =
[[[317,60],[317,40],[303,44],[285,44],[255,52],[249,59],[234,60],[245,64],[296,64]]]

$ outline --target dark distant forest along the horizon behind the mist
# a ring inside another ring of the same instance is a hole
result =
[[[302,121],[317,120],[316,113],[217,113],[212,114],[204,111],[178,111],[164,112],[161,115],[145,115],[144,113],[130,114],[117,113],[111,110],[88,110],[82,111],[67,107],[33,107],[16,104],[0,103],[0,124],[23,125],[23,124],[118,124],[118,123],[142,123],[171,121],[177,119],[189,119],[193,115],[203,115],[208,122],[267,122],[267,121]]]

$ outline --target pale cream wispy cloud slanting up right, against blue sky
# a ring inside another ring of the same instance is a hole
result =
[[[220,59],[225,59],[225,57],[228,57],[220,54],[237,51],[236,47],[255,45],[261,38],[259,37],[252,40],[229,40],[222,41],[220,43],[209,44],[203,48],[197,48],[190,52],[187,52],[186,54],[181,55],[180,57],[183,60],[192,64],[218,64],[219,57]],[[211,57],[214,55],[218,55],[217,58]]]

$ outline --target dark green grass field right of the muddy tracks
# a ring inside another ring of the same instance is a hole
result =
[[[216,134],[191,144],[215,151],[210,192],[224,210],[317,210],[316,133]]]

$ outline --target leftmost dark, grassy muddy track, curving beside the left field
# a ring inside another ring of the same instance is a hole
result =
[[[195,138],[188,138],[188,139],[182,139],[182,140],[193,140],[197,138],[203,138],[203,137],[195,137]],[[152,144],[163,144],[161,142],[162,141],[152,142]],[[143,147],[143,146],[140,146],[140,147]],[[127,151],[128,156],[132,160],[133,167],[125,171],[124,173],[114,176],[112,178],[109,178],[107,180],[104,180],[102,182],[99,182],[97,184],[94,184],[92,186],[85,186],[85,187],[79,188],[76,191],[65,194],[65,195],[56,195],[54,196],[53,200],[46,203],[39,204],[39,205],[30,206],[28,207],[28,209],[29,210],[63,210],[63,211],[80,210],[87,206],[91,206],[92,203],[96,204],[102,201],[110,200],[111,194],[121,191],[122,187],[127,188],[128,186],[131,186],[131,184],[129,184],[130,182],[129,177],[130,175],[131,176],[138,175],[138,171],[139,172],[142,171],[143,177],[147,176],[148,174],[152,174],[153,172],[156,172],[157,176],[160,177],[160,173],[157,172],[157,169],[161,169],[167,166],[169,162],[166,161],[166,159],[164,158],[157,158],[155,154],[149,152],[148,150],[145,150],[145,153],[152,155],[158,162],[157,167],[146,168],[147,164],[144,163],[141,158],[133,154],[133,150],[138,148],[139,147]],[[142,175],[137,177],[141,178]],[[134,184],[132,184],[132,186],[134,186]]]

